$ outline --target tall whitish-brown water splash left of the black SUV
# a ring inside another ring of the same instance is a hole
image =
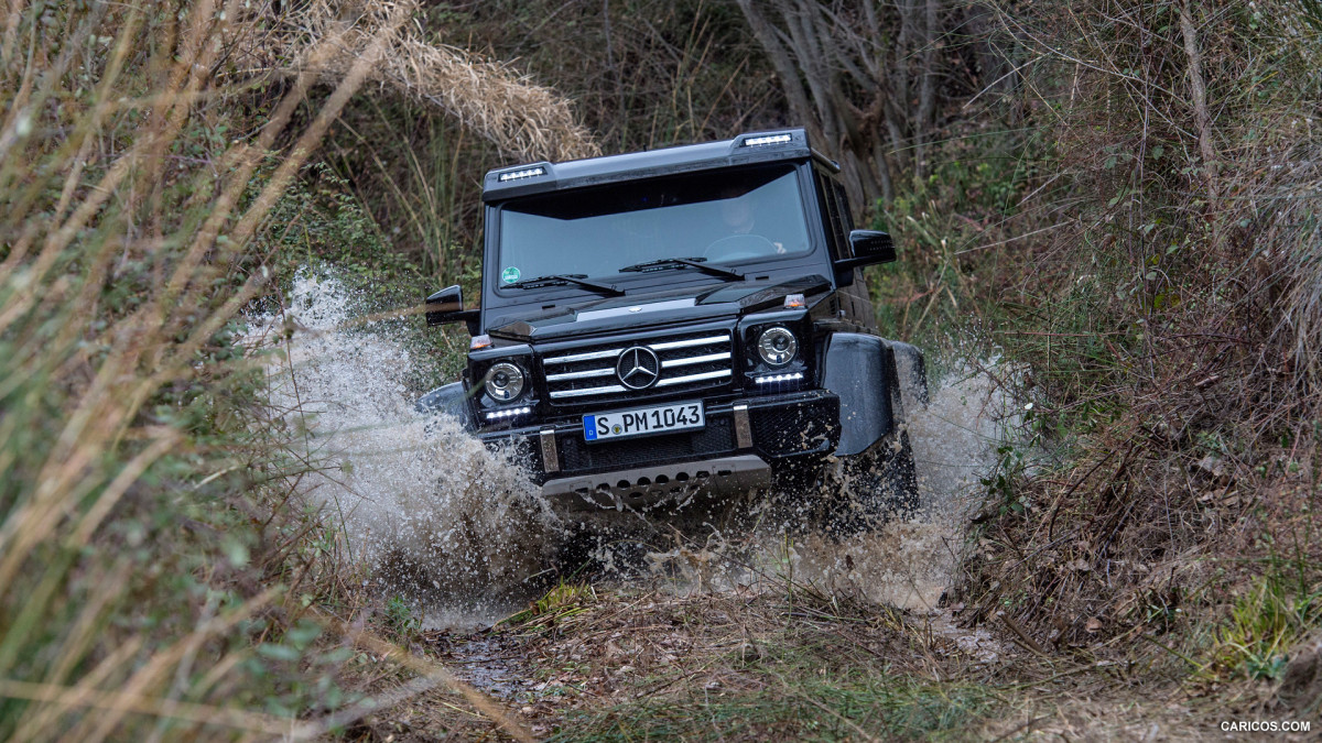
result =
[[[553,565],[559,525],[509,455],[414,411],[410,354],[350,307],[340,282],[300,272],[284,312],[249,332],[254,346],[288,334],[267,372],[315,464],[299,488],[334,513],[369,588],[448,623],[493,620]]]

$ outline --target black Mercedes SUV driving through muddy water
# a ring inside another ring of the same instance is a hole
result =
[[[427,297],[472,333],[463,381],[428,393],[526,450],[561,506],[821,480],[854,463],[914,497],[902,386],[923,356],[876,334],[839,167],[802,130],[486,173],[481,307]]]

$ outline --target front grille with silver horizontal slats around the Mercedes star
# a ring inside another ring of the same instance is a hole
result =
[[[641,390],[627,387],[616,374],[620,354],[635,346],[650,349],[660,361],[656,382]],[[598,344],[553,353],[542,360],[554,405],[706,390],[728,383],[732,368],[734,346],[728,331]]]

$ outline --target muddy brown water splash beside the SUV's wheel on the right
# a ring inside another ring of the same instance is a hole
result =
[[[980,479],[993,467],[1010,406],[986,373],[951,375],[925,407],[907,401],[907,431],[917,469],[919,509],[847,535],[795,529],[780,512],[751,534],[713,531],[649,555],[653,571],[681,591],[771,586],[785,579],[828,595],[912,612],[933,611],[953,583]],[[853,484],[813,497],[847,502]],[[793,496],[793,494],[791,494]],[[795,518],[793,513],[788,518]]]

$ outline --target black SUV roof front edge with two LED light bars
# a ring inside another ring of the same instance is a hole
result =
[[[773,130],[742,134],[723,141],[628,152],[568,163],[527,163],[512,168],[498,168],[486,173],[483,182],[483,201],[504,201],[533,193],[806,157],[817,157],[832,169],[839,169],[839,165],[808,145],[808,135],[804,130]]]

